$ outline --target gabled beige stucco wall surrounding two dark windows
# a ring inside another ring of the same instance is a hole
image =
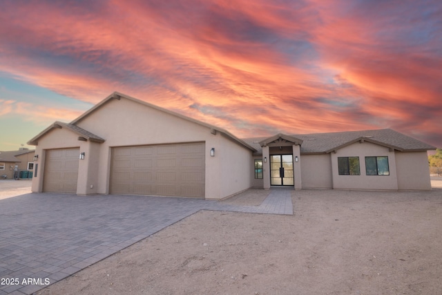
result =
[[[332,157],[332,177],[334,189],[373,189],[373,190],[397,190],[396,157],[394,151],[389,151],[385,146],[372,144],[371,142],[356,142],[338,149]],[[366,175],[365,157],[388,156],[390,175]],[[361,175],[339,175],[338,157],[359,157]]]

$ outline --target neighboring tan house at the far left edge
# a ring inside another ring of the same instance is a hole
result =
[[[0,180],[14,178],[15,171],[19,178],[32,178],[34,153],[34,150],[26,148],[20,148],[19,151],[0,151]]]

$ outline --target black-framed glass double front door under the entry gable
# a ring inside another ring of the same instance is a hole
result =
[[[293,155],[270,156],[270,185],[294,185]]]

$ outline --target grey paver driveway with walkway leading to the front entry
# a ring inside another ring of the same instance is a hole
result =
[[[200,210],[293,214],[290,189],[260,206],[146,196],[29,193],[0,200],[0,295],[32,294]]]

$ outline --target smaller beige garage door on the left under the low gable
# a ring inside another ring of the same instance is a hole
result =
[[[46,151],[43,191],[77,193],[79,149]]]

